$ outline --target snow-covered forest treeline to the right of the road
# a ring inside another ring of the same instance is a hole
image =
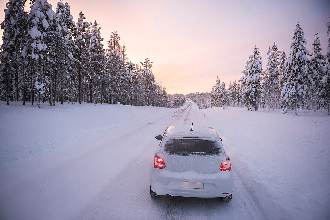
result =
[[[329,35],[330,21],[326,26]],[[265,70],[259,48],[255,46],[242,71],[244,76],[238,82],[235,79],[227,88],[225,81],[217,77],[211,93],[190,93],[187,97],[200,108],[223,107],[225,110],[227,106],[236,106],[253,111],[261,106],[282,109],[282,114],[295,110],[295,115],[299,108],[328,109],[330,114],[330,38],[325,56],[317,32],[312,52],[306,49],[307,40],[299,22],[292,40],[288,57],[276,43],[268,47]]]

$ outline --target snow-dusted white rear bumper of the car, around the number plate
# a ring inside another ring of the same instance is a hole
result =
[[[182,182],[202,182],[204,189],[182,188]],[[152,167],[150,169],[150,187],[157,195],[225,197],[233,192],[234,175],[233,171],[220,171],[212,174],[178,173]]]

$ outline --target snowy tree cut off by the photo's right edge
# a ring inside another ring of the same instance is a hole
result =
[[[329,17],[330,20],[330,17]],[[328,35],[330,34],[330,21],[327,23]],[[327,53],[325,55],[325,68],[322,78],[322,83],[319,88],[319,95],[325,100],[328,106],[328,114],[330,115],[330,38],[328,40]]]

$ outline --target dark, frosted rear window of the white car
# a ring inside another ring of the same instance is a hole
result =
[[[164,150],[169,154],[179,155],[215,155],[221,151],[217,141],[198,139],[169,139]]]

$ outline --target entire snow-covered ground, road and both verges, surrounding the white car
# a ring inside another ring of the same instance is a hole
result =
[[[0,219],[327,219],[326,111],[250,112],[0,102]],[[146,115],[145,116],[145,109]],[[300,114],[300,115],[299,115]],[[316,122],[313,122],[313,120]],[[233,199],[149,196],[149,170],[173,124],[211,126],[235,173]]]

